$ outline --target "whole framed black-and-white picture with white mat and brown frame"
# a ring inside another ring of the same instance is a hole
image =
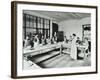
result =
[[[12,76],[97,73],[97,7],[12,2]]]

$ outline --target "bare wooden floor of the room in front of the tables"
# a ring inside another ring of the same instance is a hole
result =
[[[64,67],[79,67],[91,66],[91,55],[85,60],[73,60],[69,54],[59,54],[59,52],[46,53],[44,55],[34,56],[31,61],[42,68],[64,68]]]

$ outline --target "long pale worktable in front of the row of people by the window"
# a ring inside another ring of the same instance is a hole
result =
[[[30,49],[24,49],[23,50],[23,55],[24,56],[35,56],[39,54],[43,54],[55,49],[60,48],[62,45],[62,42],[55,43],[55,44],[47,44],[47,45],[39,45],[38,47],[34,48],[33,50]]]

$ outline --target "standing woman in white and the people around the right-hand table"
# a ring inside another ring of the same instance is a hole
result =
[[[64,43],[70,43],[70,56],[73,59],[77,59],[77,46],[85,46],[85,53],[89,52],[89,41],[87,38],[84,38],[83,40],[80,40],[79,37],[76,36],[76,34],[72,34],[70,36],[70,39],[67,39],[66,36],[64,36]]]

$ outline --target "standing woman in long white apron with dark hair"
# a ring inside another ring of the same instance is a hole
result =
[[[72,59],[77,59],[77,47],[76,47],[76,35],[73,34],[73,40],[72,40],[72,43],[71,43],[71,53],[70,53],[70,56]]]

